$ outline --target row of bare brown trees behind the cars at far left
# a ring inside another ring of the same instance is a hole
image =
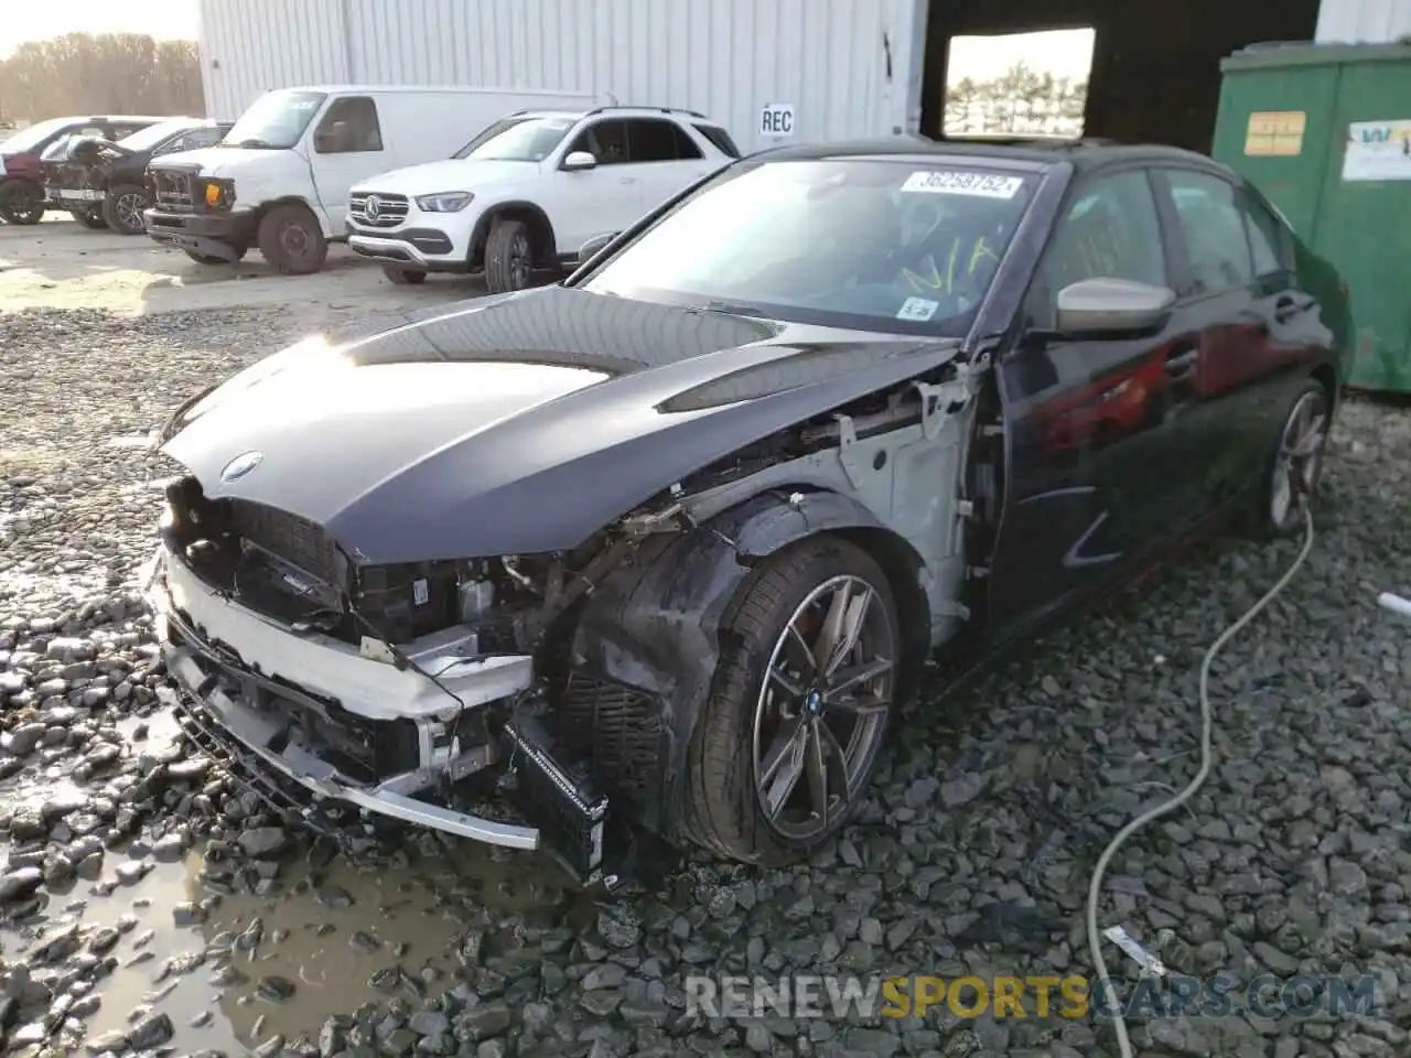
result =
[[[0,61],[0,116],[203,114],[193,41],[73,32],[30,41]]]

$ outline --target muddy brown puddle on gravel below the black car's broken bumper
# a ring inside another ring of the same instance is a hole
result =
[[[291,863],[293,889],[271,897],[222,894],[205,923],[189,925],[178,923],[189,921],[192,908],[179,906],[212,896],[202,883],[206,861],[195,851],[182,863],[158,865],[113,897],[123,906],[111,910],[130,913],[137,925],[114,949],[123,965],[96,989],[102,1006],[89,1019],[87,1038],[130,1031],[162,1011],[178,1051],[238,1054],[274,1035],[316,1041],[330,1016],[370,1000],[398,995],[418,1006],[419,993],[456,985],[457,945],[477,906],[522,911],[560,903],[552,889],[522,884],[531,870],[523,862],[464,859],[456,866],[478,868],[483,900],[446,899],[446,890],[464,889],[449,865],[428,884],[425,863],[396,872],[336,859],[316,886],[298,879],[301,865]],[[258,945],[246,951],[244,938],[257,932]],[[231,945],[230,966],[220,969],[220,952]]]

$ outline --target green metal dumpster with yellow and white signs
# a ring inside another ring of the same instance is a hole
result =
[[[1256,45],[1221,63],[1212,154],[1349,289],[1349,385],[1411,392],[1411,44]]]

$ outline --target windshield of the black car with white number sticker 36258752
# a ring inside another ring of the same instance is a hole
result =
[[[944,159],[766,162],[693,193],[583,286],[783,320],[962,334],[1031,182]]]

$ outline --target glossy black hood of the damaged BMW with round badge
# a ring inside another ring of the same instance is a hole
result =
[[[317,522],[358,561],[567,550],[958,344],[546,288],[278,353],[178,412],[162,450],[207,497]]]

